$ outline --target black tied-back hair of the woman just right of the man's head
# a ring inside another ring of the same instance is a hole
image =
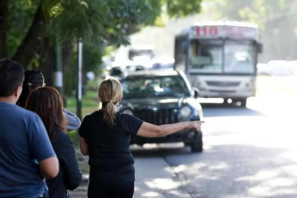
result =
[[[44,85],[43,74],[36,69],[28,69],[25,71],[25,79],[23,83],[23,91],[20,98],[17,101],[17,105],[25,108],[26,100],[30,92],[36,87],[42,87]]]

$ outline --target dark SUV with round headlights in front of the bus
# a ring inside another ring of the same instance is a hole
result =
[[[176,70],[132,72],[121,80],[123,99],[118,111],[155,125],[200,120],[199,90]],[[161,138],[131,137],[131,144],[184,142],[192,152],[203,150],[202,132],[186,129]]]

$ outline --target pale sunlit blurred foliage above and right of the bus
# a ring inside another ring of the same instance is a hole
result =
[[[215,20],[249,21],[259,25],[264,45],[261,61],[297,59],[295,0],[212,0],[209,5]]]

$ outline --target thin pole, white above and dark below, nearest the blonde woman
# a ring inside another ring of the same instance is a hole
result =
[[[82,100],[82,41],[78,40],[77,50],[77,117],[81,119],[81,100]]]

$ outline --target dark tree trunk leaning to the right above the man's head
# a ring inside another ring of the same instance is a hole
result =
[[[40,36],[40,32],[43,28],[44,20],[44,13],[41,5],[39,5],[28,33],[12,58],[22,64],[25,69],[28,67],[35,54],[39,50],[42,50],[39,49],[39,47],[43,41]]]

